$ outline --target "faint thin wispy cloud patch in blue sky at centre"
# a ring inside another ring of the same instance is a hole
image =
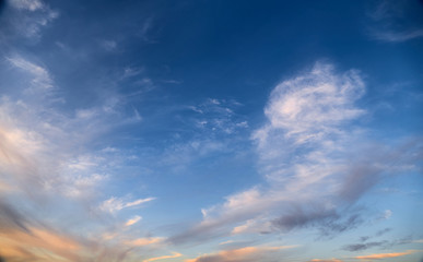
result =
[[[175,108],[174,120],[180,128],[169,139],[172,143],[158,153],[160,166],[189,171],[188,168],[196,163],[218,153],[237,154],[245,147],[248,130],[245,117],[237,112],[240,107],[236,100],[208,98],[196,105]]]

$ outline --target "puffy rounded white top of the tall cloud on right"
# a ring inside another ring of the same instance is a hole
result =
[[[298,144],[320,140],[364,112],[353,105],[364,93],[359,72],[333,71],[333,66],[318,62],[309,73],[283,81],[272,91],[265,109],[269,123],[254,135],[260,146],[274,131]]]

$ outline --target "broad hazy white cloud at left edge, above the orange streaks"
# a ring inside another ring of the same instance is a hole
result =
[[[5,59],[28,83],[0,98],[0,181],[28,194],[58,193],[87,199],[96,194],[120,162],[124,151],[97,151],[91,143],[141,116],[125,116],[119,96],[109,96],[91,108],[63,112],[59,86],[46,67],[22,55]],[[15,75],[13,75],[15,76]],[[54,92],[52,92],[54,91]],[[5,182],[5,180],[7,182]]]

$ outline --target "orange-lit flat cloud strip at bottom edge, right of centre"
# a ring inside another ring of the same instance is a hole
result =
[[[281,247],[246,247],[240,249],[224,250],[218,253],[203,254],[196,259],[185,260],[185,262],[252,262],[252,261],[274,261],[280,258],[281,250],[292,249],[296,246]],[[275,253],[277,257],[272,257]]]

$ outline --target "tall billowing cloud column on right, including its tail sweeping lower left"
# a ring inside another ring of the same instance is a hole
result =
[[[354,107],[363,93],[364,83],[356,70],[338,74],[333,66],[326,63],[316,63],[310,72],[279,84],[265,109],[268,122],[252,135],[269,186],[232,194],[223,204],[203,209],[203,221],[176,236],[177,241],[196,235],[219,235],[226,226],[260,214],[268,216],[262,223],[272,223],[273,230],[315,225],[318,221],[334,231],[355,226],[360,218],[354,215],[346,218],[353,223],[351,227],[336,222],[341,216],[327,196],[338,194],[339,182],[334,181],[349,171],[350,166],[341,158],[345,154],[342,145],[346,136],[354,135],[346,134],[342,127],[364,114]]]

